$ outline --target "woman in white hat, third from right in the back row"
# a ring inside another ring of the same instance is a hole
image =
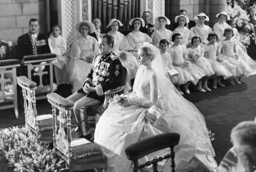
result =
[[[182,41],[181,43],[184,45],[188,45],[190,43],[190,40],[192,36],[195,34],[191,32],[185,25],[189,23],[189,18],[184,15],[176,16],[175,17],[175,23],[178,23],[179,26],[174,29],[173,32],[178,32],[182,35]]]

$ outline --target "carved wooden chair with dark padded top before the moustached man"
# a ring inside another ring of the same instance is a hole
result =
[[[56,55],[49,54],[40,54],[40,55],[27,55],[24,56],[24,65],[27,66],[28,79],[32,79],[32,70],[37,67],[38,72],[33,73],[34,76],[38,75],[39,85],[36,89],[36,99],[46,99],[46,94],[54,92],[54,83],[53,83],[53,64],[52,62],[56,59]],[[45,63],[42,63],[45,62]],[[38,64],[39,63],[39,64]],[[48,74],[48,71],[42,71],[41,67],[49,66],[50,68],[50,85],[43,85],[43,75]],[[50,89],[49,89],[50,88]]]

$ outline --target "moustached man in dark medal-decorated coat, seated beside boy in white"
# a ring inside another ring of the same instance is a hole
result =
[[[37,19],[32,18],[29,21],[29,32],[20,36],[17,41],[16,58],[20,61],[26,55],[38,55],[51,53],[50,47],[48,45],[48,39],[45,35],[39,33],[39,22]],[[49,73],[49,66],[46,66],[46,71]],[[34,70],[38,72],[37,69]],[[38,76],[34,76],[32,71],[32,80],[39,84],[40,80]],[[27,67],[21,67],[21,74],[27,76]],[[48,85],[50,79],[48,76],[43,76],[43,84]]]

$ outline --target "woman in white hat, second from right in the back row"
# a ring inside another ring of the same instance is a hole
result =
[[[205,21],[209,21],[209,17],[201,12],[200,14],[196,15],[194,19],[198,20],[198,24],[190,30],[195,35],[199,35],[201,37],[202,42],[200,43],[200,46],[204,47],[207,43],[209,43],[207,40],[208,34],[212,32],[212,29],[204,24]]]

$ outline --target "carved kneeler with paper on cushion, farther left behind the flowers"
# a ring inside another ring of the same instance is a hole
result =
[[[40,140],[44,144],[49,144],[53,140],[53,118],[51,114],[38,115],[37,113],[36,83],[25,76],[20,76],[18,77],[18,85],[22,87],[26,128],[36,135],[41,135]]]

